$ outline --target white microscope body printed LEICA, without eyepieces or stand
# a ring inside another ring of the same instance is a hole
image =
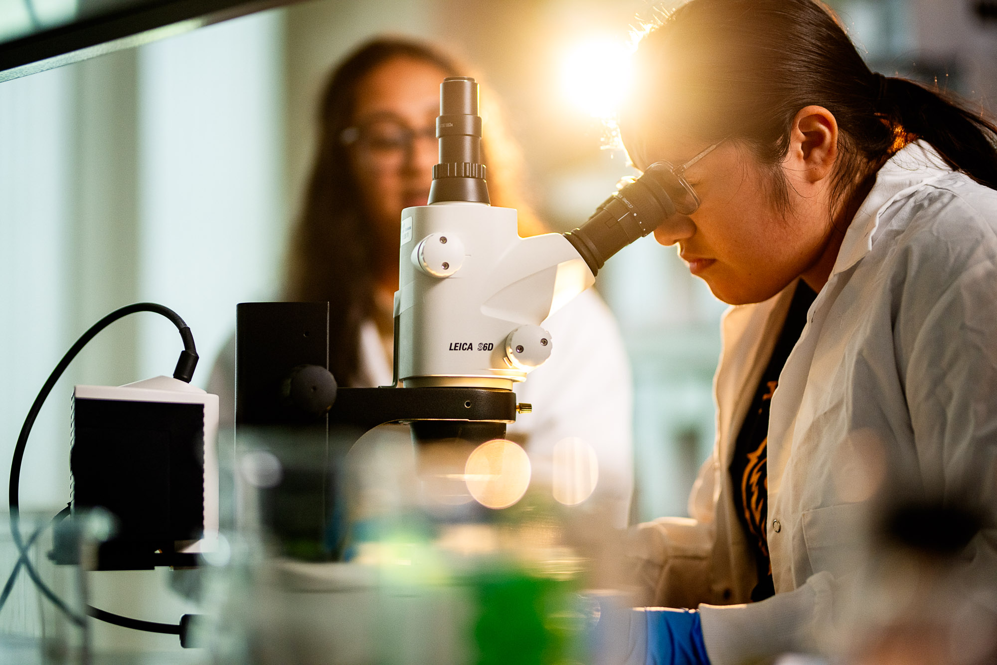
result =
[[[402,212],[400,277],[406,387],[512,389],[550,355],[543,320],[595,281],[562,235],[519,238],[514,210],[449,202]]]

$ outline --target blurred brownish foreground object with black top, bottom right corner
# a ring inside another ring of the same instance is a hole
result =
[[[884,512],[845,633],[855,665],[997,662],[997,576],[979,565],[992,547],[992,507],[912,499]]]

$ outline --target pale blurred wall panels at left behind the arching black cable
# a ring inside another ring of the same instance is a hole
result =
[[[21,422],[73,341],[137,301],[194,333],[203,386],[235,304],[277,291],[282,15],[0,83],[0,505]],[[69,499],[74,383],[171,374],[181,348],[142,314],[84,349],[35,425],[22,506]]]

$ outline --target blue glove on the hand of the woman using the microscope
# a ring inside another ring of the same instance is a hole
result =
[[[647,622],[645,665],[710,665],[703,642],[699,611],[669,607],[639,607]],[[639,617],[634,617],[639,621]]]

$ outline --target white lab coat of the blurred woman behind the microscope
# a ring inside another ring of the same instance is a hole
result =
[[[633,383],[616,322],[599,296],[587,291],[555,312],[543,327],[553,349],[524,383],[514,386],[516,400],[532,404],[516,416],[508,436],[526,446],[533,478],[549,484],[554,445],[568,437],[588,442],[598,461],[593,500],[603,505],[614,526],[627,524],[633,491]],[[391,359],[377,327],[360,331],[358,386],[388,385]],[[234,421],[235,345],[218,355],[208,390],[219,395],[221,424]]]

